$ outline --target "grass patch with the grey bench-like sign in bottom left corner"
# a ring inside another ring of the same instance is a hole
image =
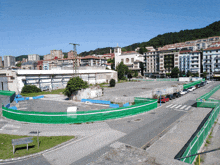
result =
[[[13,147],[11,144],[12,139],[24,137],[28,136],[0,134],[0,159],[9,159],[34,154],[75,138],[74,136],[39,136],[40,146],[38,149],[37,136],[33,136],[33,142],[28,144],[28,151],[26,144],[16,145],[15,154],[13,155]]]

